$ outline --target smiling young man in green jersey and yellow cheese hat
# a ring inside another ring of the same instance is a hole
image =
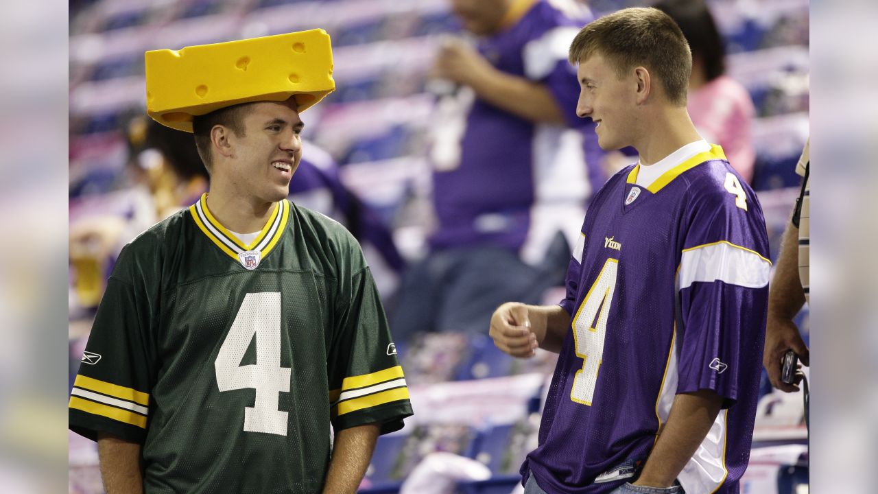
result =
[[[354,492],[412,409],[359,244],[285,199],[299,113],[335,87],[328,36],[162,52],[148,113],[194,131],[210,190],[119,255],[70,428],[110,494]]]

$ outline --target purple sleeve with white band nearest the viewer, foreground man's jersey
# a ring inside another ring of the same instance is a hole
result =
[[[731,171],[724,186],[711,178],[689,190],[677,278],[677,392],[711,389],[728,408],[739,392],[756,392],[762,368],[771,266],[765,219],[755,193]]]

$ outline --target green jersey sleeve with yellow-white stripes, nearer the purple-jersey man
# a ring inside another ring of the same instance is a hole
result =
[[[398,431],[412,404],[368,267],[351,277],[349,293],[340,298],[339,332],[327,361],[333,427],[379,423],[382,434]]]

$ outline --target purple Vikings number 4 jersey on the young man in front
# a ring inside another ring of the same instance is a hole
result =
[[[560,303],[572,331],[522,475],[551,494],[610,492],[643,466],[674,396],[712,389],[723,410],[678,480],[738,492],[768,303],[762,209],[719,146],[646,188],[638,170],[588,208]]]

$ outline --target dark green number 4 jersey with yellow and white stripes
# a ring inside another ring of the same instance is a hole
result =
[[[126,245],[69,426],[142,444],[146,493],[319,492],[336,432],[412,414],[360,246],[282,200],[242,244],[195,205]]]

